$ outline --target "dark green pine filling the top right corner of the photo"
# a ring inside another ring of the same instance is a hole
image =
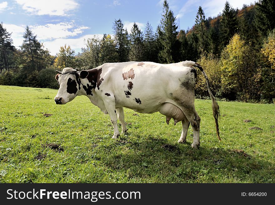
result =
[[[255,25],[263,37],[275,28],[275,1],[259,0],[255,4]]]

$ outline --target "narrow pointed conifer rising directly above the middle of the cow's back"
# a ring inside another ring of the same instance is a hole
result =
[[[130,33],[131,46],[129,51],[130,61],[143,61],[144,59],[144,44],[143,33],[136,23],[133,24]]]

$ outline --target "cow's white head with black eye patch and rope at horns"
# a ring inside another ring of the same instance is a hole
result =
[[[60,88],[54,101],[56,104],[66,104],[72,101],[79,93],[80,72],[73,68],[64,68],[62,72],[56,72],[58,74],[55,76],[55,79],[58,81]]]

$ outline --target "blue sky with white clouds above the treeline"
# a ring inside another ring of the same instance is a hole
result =
[[[199,6],[206,17],[215,17],[224,8],[226,0],[168,0],[177,17],[180,29],[195,23]],[[233,8],[242,8],[252,0],[229,0]],[[128,32],[136,22],[143,30],[149,22],[153,30],[158,26],[163,0],[0,0],[0,21],[12,32],[14,46],[22,45],[23,32],[28,25],[37,39],[52,55],[60,46],[70,45],[81,52],[84,39],[103,33],[113,34],[113,22],[121,19]]]

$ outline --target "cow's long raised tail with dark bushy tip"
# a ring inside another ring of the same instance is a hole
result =
[[[208,80],[208,77],[206,75],[206,73],[204,72],[204,70],[202,69],[202,67],[198,64],[198,63],[195,63],[195,65],[197,68],[200,69],[200,71],[202,72],[205,80],[206,80],[206,84],[207,84],[207,89],[208,89],[208,93],[210,95],[210,98],[212,100],[212,111],[213,111],[213,116],[214,116],[214,119],[215,119],[215,123],[216,123],[216,132],[217,132],[217,137],[219,140],[221,140],[220,138],[220,133],[219,133],[219,124],[218,124],[218,118],[220,116],[220,108],[219,108],[219,105],[214,97],[214,95],[212,94],[212,91],[211,91],[211,88],[210,88],[210,85],[209,85],[209,80]]]

